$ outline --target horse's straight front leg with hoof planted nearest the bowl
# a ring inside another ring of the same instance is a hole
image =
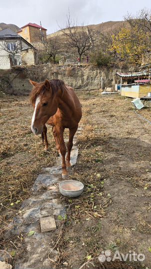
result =
[[[64,128],[55,127],[56,134],[60,144],[60,153],[62,155],[62,178],[66,178],[68,176],[65,154],[66,154],[66,146],[63,138]]]

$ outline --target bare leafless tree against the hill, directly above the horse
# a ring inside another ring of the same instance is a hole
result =
[[[77,23],[72,22],[70,12],[67,15],[66,28],[61,29],[61,31],[67,37],[68,48],[77,50],[81,62],[82,55],[85,55],[94,44],[94,31],[88,26],[83,24],[78,26]]]

